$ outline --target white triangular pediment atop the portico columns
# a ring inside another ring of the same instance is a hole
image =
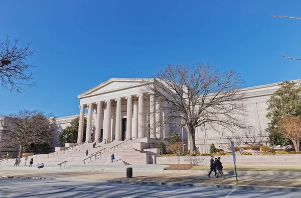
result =
[[[113,92],[121,89],[141,86],[147,83],[149,78],[110,78],[109,80],[79,94],[78,98]]]

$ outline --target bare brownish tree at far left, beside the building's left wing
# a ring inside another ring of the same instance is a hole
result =
[[[3,116],[0,119],[2,144],[20,147],[19,156],[30,144],[50,143],[53,127],[50,118],[39,110],[22,110],[17,114]],[[5,146],[5,145],[4,145]]]

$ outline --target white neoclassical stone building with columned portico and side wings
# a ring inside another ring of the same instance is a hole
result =
[[[153,127],[156,121],[164,119],[165,115],[163,113],[160,116],[149,116],[150,112],[155,112],[156,105],[155,98],[143,92],[143,87],[148,81],[149,79],[142,78],[111,78],[78,95],[79,115],[53,118],[53,121],[61,131],[70,125],[71,120],[80,117],[78,143],[83,140],[84,117],[87,118],[86,141],[122,141],[148,137],[148,134],[150,138],[169,139],[174,131],[187,140],[187,131],[180,127]],[[300,86],[301,79],[293,82]],[[278,83],[244,88],[245,129],[233,133],[221,126],[217,127],[218,130],[210,129],[207,125],[199,127],[196,131],[196,145],[199,151],[208,153],[211,143],[214,143],[216,148],[228,150],[231,140],[245,149],[257,149],[260,145],[266,145],[266,101],[277,89]],[[54,138],[54,144],[57,137]]]

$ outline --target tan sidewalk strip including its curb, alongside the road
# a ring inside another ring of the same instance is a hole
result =
[[[126,178],[126,173],[113,172],[70,172],[55,170],[0,170],[2,177],[28,179],[59,179],[59,180],[86,180],[98,182],[120,183],[152,183],[160,185],[189,185],[215,186],[241,189],[270,189],[301,191],[301,178],[296,175],[238,175],[236,185],[235,175],[226,174],[227,179],[211,178],[206,174],[196,173],[136,173],[132,178]],[[284,189],[286,188],[286,189]]]

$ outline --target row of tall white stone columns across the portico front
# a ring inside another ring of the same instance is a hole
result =
[[[138,102],[134,101],[133,105],[133,126],[132,124],[132,97],[126,96],[127,100],[127,112],[126,112],[126,139],[130,138],[142,138],[143,137],[143,94],[137,94]],[[116,126],[115,126],[115,140],[121,140],[121,98],[115,98],[116,107]],[[111,128],[111,101],[105,101],[106,108],[104,109],[104,122],[103,122],[103,139],[109,139],[109,133]],[[94,110],[96,116],[96,129],[95,129],[95,141],[99,142],[100,129],[101,129],[101,112],[102,103],[96,103],[97,108]],[[93,105],[90,103],[87,105],[88,109],[88,119],[87,119],[87,131],[86,131],[86,142],[91,141],[92,132],[92,112]],[[83,130],[84,130],[84,106],[80,106],[80,119],[79,119],[79,129],[77,143],[82,143]],[[95,118],[95,117],[94,117]]]

